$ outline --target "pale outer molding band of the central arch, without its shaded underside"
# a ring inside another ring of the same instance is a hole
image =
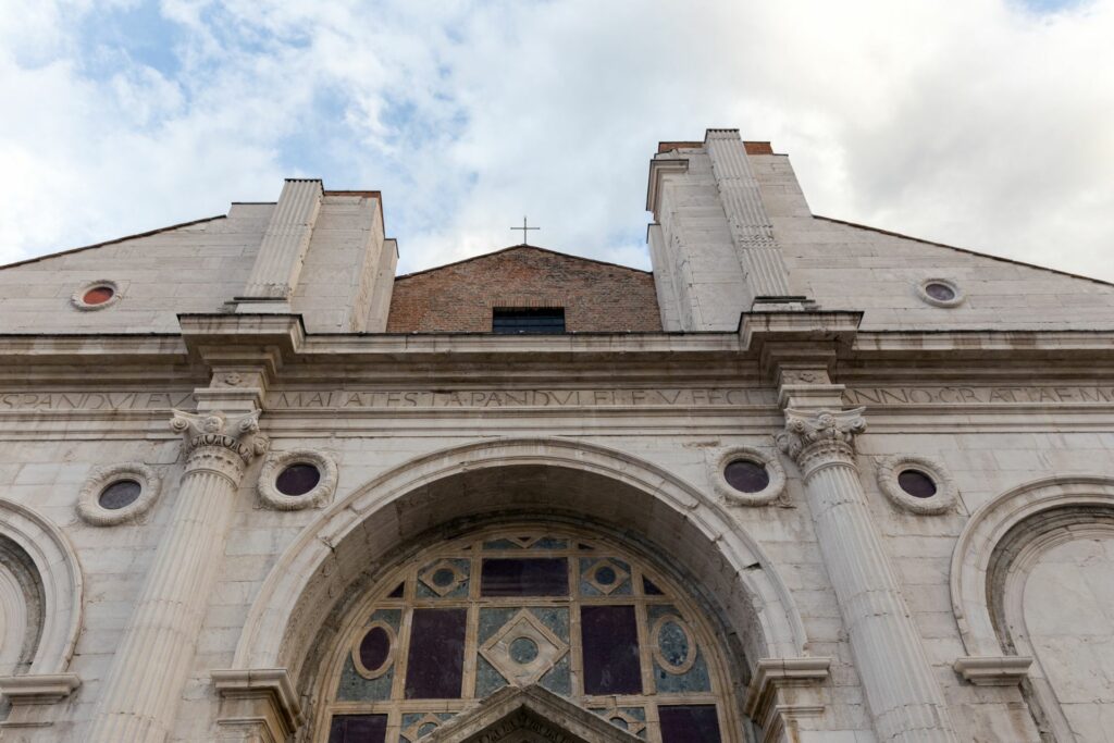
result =
[[[388,515],[399,508],[404,498],[421,492],[433,482],[466,471],[516,466],[564,468],[607,477],[617,485],[635,488],[646,495],[664,514],[678,515],[709,539],[716,550],[710,564],[725,566],[733,583],[724,585],[723,595],[737,597],[724,610],[729,619],[746,626],[752,647],[744,648],[751,657],[768,655],[798,656],[803,653],[807,634],[792,594],[776,570],[770,566],[761,547],[740,529],[725,506],[680,480],[675,475],[632,454],[598,444],[567,439],[498,439],[472,442],[422,454],[383,472],[367,485],[354,489],[332,504],[287,547],[276,560],[245,622],[236,647],[234,667],[278,666],[297,675],[304,657],[295,657],[297,643],[309,642],[316,633],[328,606],[317,606],[313,595],[321,595],[325,585],[345,580],[346,567],[340,563],[355,559],[350,555],[354,539],[360,549],[384,549],[404,535],[391,534],[379,542],[368,539],[365,525],[375,524],[377,515]],[[648,506],[648,504],[647,504]],[[701,509],[700,519],[687,515]],[[382,526],[378,527],[381,531]],[[359,556],[362,570],[368,555]],[[760,565],[763,569],[753,569]],[[746,569],[746,568],[751,569]],[[727,580],[717,577],[715,580]],[[715,585],[709,578],[710,585]],[[742,603],[761,606],[761,612],[745,609]],[[320,603],[320,602],[319,602]],[[303,638],[303,635],[306,635]],[[296,642],[295,642],[296,641]]]

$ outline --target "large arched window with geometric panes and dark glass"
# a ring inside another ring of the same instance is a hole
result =
[[[540,686],[657,743],[741,740],[721,644],[670,574],[609,537],[497,527],[385,570],[324,659],[313,740],[413,743]]]

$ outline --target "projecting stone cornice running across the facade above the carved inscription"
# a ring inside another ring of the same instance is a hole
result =
[[[662,363],[756,363],[763,354],[790,349],[828,349],[842,380],[857,369],[892,366],[979,374],[1016,372],[1018,363],[1093,372],[1114,362],[1114,330],[1096,331],[862,331],[857,312],[755,312],[743,315],[737,332],[569,333],[508,336],[489,333],[317,334],[305,332],[299,315],[180,315],[182,334],[12,334],[0,335],[0,381],[33,378],[198,379],[206,369],[251,361],[276,371],[350,362],[400,369],[413,363],[485,369],[506,365]],[[105,359],[113,360],[111,365]],[[1032,371],[1032,370],[1030,370]]]

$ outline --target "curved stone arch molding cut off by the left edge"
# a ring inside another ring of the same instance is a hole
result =
[[[69,667],[85,604],[77,554],[62,531],[27,506],[0,498],[0,535],[19,545],[42,581],[42,627],[28,676],[63,674]]]

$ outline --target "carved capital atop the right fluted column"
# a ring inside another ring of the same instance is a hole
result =
[[[854,465],[854,437],[867,430],[864,408],[853,410],[785,410],[785,430],[778,447],[808,476],[817,467]]]

